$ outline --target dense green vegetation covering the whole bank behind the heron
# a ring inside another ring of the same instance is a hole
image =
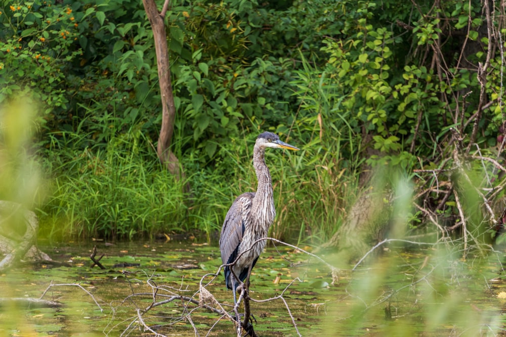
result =
[[[142,2],[0,4],[0,102],[39,107],[30,127],[47,188],[30,203],[54,238],[211,237],[235,196],[255,188],[261,130],[303,149],[268,154],[276,237],[328,238],[376,167],[400,172],[388,184],[419,187],[413,227],[430,214],[452,225],[458,179],[445,172],[460,154],[481,158],[467,166],[477,185],[502,186],[490,166],[504,139],[499,3],[171,2],[183,180],[153,150],[161,109]]]

